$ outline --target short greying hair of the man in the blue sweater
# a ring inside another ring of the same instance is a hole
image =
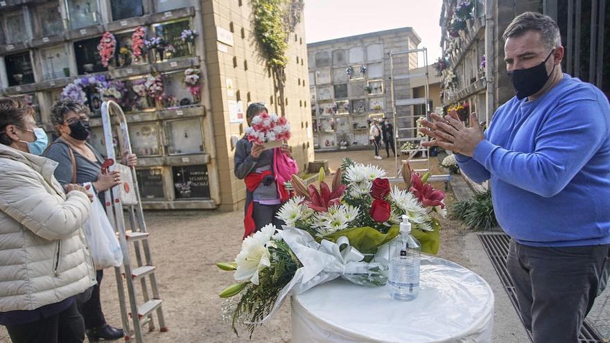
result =
[[[542,43],[546,48],[555,49],[557,46],[561,46],[561,34],[555,20],[538,12],[523,12],[515,17],[508,24],[502,37],[504,40],[508,37],[519,37],[530,30],[540,33]]]

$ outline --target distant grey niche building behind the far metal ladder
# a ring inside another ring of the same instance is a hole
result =
[[[410,27],[307,44],[313,146],[316,150],[370,148],[370,118],[393,118],[388,53],[416,49],[421,39]],[[394,76],[417,68],[418,55],[394,57]],[[409,79],[394,81],[397,100],[412,97]],[[410,106],[397,107],[399,126],[408,127]],[[407,132],[401,132],[406,137]]]

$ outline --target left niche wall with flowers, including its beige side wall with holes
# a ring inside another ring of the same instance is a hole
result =
[[[233,175],[234,145],[249,103],[279,113],[284,101],[293,157],[300,168],[313,159],[303,23],[288,40],[280,99],[251,17],[243,0],[0,1],[0,93],[29,100],[49,133],[49,108],[62,92],[82,98],[94,113],[90,143],[101,152],[96,115],[114,99],[139,155],[145,208],[238,209],[245,185]],[[103,37],[114,51],[98,51]],[[189,83],[193,73],[199,78]]]

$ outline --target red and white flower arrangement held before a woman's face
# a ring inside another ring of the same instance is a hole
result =
[[[261,112],[252,118],[252,126],[245,129],[248,141],[264,144],[290,139],[290,123],[285,117]]]

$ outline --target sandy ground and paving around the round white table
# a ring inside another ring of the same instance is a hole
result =
[[[336,170],[343,157],[363,163],[378,164],[394,171],[394,159],[377,161],[372,152],[325,152],[316,159],[327,159]],[[430,164],[433,174],[443,173],[437,161]],[[424,166],[414,166],[423,168]],[[394,176],[394,175],[389,175]],[[442,182],[434,185],[443,188]],[[448,194],[447,202],[453,201]],[[217,261],[231,261],[241,245],[243,213],[217,211],[150,212],[146,213],[151,232],[151,249],[157,265],[157,277],[169,328],[167,333],[147,333],[146,342],[290,342],[290,304],[286,303],[264,328],[236,337],[221,319],[222,301],[217,294],[232,283],[232,274],[221,272]],[[527,342],[523,326],[500,285],[489,258],[476,235],[465,231],[451,220],[443,222],[439,256],[480,274],[494,290],[494,342]],[[102,283],[103,308],[108,322],[120,326],[114,271],[107,270]],[[0,327],[0,342],[9,342]]]

